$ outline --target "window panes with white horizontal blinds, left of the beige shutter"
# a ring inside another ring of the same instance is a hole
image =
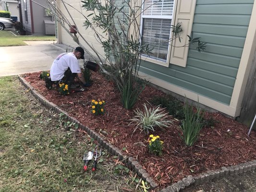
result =
[[[141,14],[142,44],[152,49],[149,58],[167,61],[174,0],[144,0]]]

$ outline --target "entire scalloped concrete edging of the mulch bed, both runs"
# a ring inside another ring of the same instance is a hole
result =
[[[58,113],[64,113],[67,116],[68,120],[70,120],[73,123],[77,123],[82,130],[87,132],[88,135],[90,135],[92,138],[98,141],[98,143],[103,148],[107,149],[111,155],[118,156],[119,159],[123,161],[128,168],[137,172],[139,177],[142,177],[144,181],[149,183],[151,189],[155,189],[158,187],[158,184],[149,176],[146,170],[139,164],[138,161],[134,159],[134,157],[128,157],[126,155],[123,155],[122,151],[119,148],[115,147],[114,145],[110,144],[108,141],[104,140],[98,133],[94,132],[90,128],[81,124],[75,118],[70,117],[66,111],[63,111],[54,103],[49,102],[46,98],[40,95],[30,84],[28,84],[28,82],[20,75],[19,75],[19,79],[22,82],[22,84],[32,93],[32,95],[35,98],[37,98],[44,106],[46,106],[47,108],[51,108],[52,110]],[[235,166],[221,167],[220,169],[209,170],[205,173],[202,173],[194,177],[189,175],[183,178],[182,180],[179,180],[176,183],[173,183],[167,188],[162,189],[160,192],[179,192],[180,189],[184,189],[184,187],[187,187],[193,183],[197,185],[197,184],[210,181],[215,178],[224,177],[224,176],[233,176],[239,173],[244,173],[244,172],[255,170],[255,169],[256,169],[256,160],[245,162]]]

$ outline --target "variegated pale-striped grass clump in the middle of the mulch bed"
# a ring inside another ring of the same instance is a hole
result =
[[[147,108],[144,104],[144,112],[138,109],[134,112],[136,115],[131,119],[131,123],[136,124],[134,132],[140,129],[141,132],[144,131],[145,134],[148,134],[149,132],[155,132],[157,127],[168,127],[172,122],[172,120],[168,120],[168,113],[165,113],[164,108],[160,108],[160,106]]]

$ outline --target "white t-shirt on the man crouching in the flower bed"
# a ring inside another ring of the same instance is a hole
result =
[[[52,63],[50,68],[51,81],[59,81],[70,68],[72,73],[80,73],[79,62],[73,53],[62,53]]]

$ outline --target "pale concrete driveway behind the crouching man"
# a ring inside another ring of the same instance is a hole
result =
[[[49,70],[53,60],[66,52],[63,44],[0,47],[0,77]],[[68,49],[70,49],[68,47]]]

